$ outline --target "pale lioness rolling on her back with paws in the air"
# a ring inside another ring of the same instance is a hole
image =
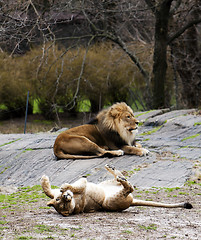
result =
[[[114,179],[94,184],[82,177],[73,184],[64,183],[60,190],[51,189],[49,178],[43,176],[41,185],[45,194],[52,198],[47,205],[53,206],[63,216],[82,212],[123,211],[130,206],[152,206],[164,208],[188,208],[190,203],[166,204],[133,199],[133,186],[122,173],[114,167],[106,165]]]

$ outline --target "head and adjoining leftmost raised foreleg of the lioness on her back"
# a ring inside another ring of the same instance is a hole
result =
[[[68,216],[73,213],[75,209],[75,201],[73,193],[70,190],[61,192],[59,189],[51,189],[49,178],[43,176],[41,178],[41,186],[45,194],[52,198],[47,206],[54,207],[55,210],[63,216]]]

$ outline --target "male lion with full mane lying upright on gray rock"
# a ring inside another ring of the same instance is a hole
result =
[[[148,150],[135,142],[139,121],[126,103],[116,103],[98,113],[89,124],[58,135],[54,154],[58,159],[86,159],[103,155],[143,156]]]

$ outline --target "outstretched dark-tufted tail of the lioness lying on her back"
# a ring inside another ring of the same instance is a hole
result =
[[[131,206],[147,206],[147,207],[163,207],[163,208],[187,208],[191,209],[193,206],[190,203],[161,203],[153,201],[143,201],[133,199]]]

